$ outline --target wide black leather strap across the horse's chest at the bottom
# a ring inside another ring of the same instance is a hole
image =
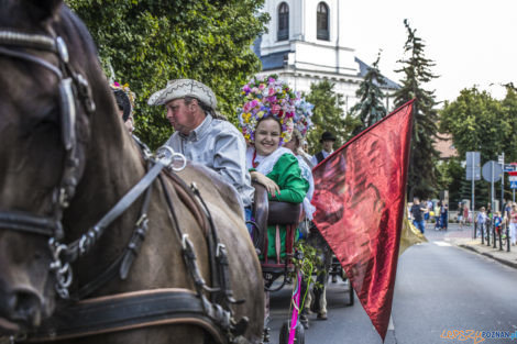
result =
[[[72,304],[29,334],[29,343],[69,340],[165,324],[194,324],[228,343],[220,323],[228,313],[182,288],[155,289],[88,299]],[[206,309],[210,311],[207,312]]]

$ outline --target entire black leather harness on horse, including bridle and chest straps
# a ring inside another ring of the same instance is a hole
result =
[[[6,47],[8,46],[8,47]],[[31,55],[22,48],[35,48],[55,53],[59,67],[43,58]],[[28,212],[0,210],[0,226],[38,234],[50,237],[48,246],[53,262],[51,270],[56,278],[57,295],[68,300],[67,307],[56,311],[40,329],[20,339],[29,342],[55,341],[58,339],[80,337],[91,334],[118,332],[129,329],[145,328],[158,324],[191,323],[205,329],[219,343],[232,343],[248,328],[248,318],[235,321],[230,304],[242,303],[234,300],[228,271],[226,246],[219,242],[217,230],[208,207],[199,190],[191,185],[189,188],[173,170],[183,169],[186,160],[169,147],[160,148],[153,156],[135,136],[147,164],[146,175],[110,210],[102,219],[89,229],[77,241],[63,244],[62,218],[64,210],[74,197],[80,179],[79,156],[76,140],[76,97],[88,114],[95,111],[91,89],[84,76],[76,73],[68,64],[68,52],[65,42],[55,34],[26,34],[16,31],[0,31],[0,55],[40,65],[54,73],[59,79],[59,109],[62,140],[66,151],[62,180],[53,191],[53,215],[42,217]],[[184,165],[176,169],[173,160],[184,159]],[[211,286],[208,287],[201,277],[196,260],[194,245],[178,225],[177,215],[164,175],[173,182],[178,197],[187,204],[197,221],[205,229],[210,257]],[[164,191],[169,218],[182,241],[182,253],[190,278],[194,280],[195,292],[188,289],[154,289],[135,291],[96,299],[84,299],[109,280],[119,276],[122,280],[129,270],[139,248],[147,233],[147,209],[152,185],[156,179]],[[144,195],[145,193],[145,195]],[[68,291],[73,281],[70,264],[85,256],[98,242],[105,230],[144,195],[140,218],[135,223],[130,243],[123,253],[95,280],[79,288],[75,293]],[[210,300],[206,297],[210,296]]]

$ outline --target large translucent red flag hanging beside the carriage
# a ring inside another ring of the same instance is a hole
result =
[[[392,312],[411,140],[413,100],[312,170],[314,222],[382,336]]]

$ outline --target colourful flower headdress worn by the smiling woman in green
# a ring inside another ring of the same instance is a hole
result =
[[[279,146],[290,141],[293,118],[297,96],[287,82],[276,75],[253,77],[242,88],[243,107],[240,109],[239,123],[246,141],[255,141],[258,121],[272,116],[280,123]]]

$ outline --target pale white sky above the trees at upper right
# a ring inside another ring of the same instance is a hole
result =
[[[340,0],[343,1],[343,0]],[[372,64],[380,48],[381,71],[394,81],[403,74],[396,63],[404,56],[409,20],[425,41],[425,56],[440,78],[425,86],[438,101],[453,101],[460,90],[476,85],[502,99],[501,84],[517,85],[517,0],[362,0],[343,1],[348,45]],[[491,84],[493,84],[491,86]]]

